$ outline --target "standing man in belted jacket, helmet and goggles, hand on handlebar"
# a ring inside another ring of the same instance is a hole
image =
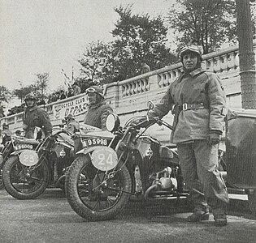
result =
[[[227,224],[229,200],[217,165],[225,94],[219,77],[202,70],[202,49],[197,45],[184,46],[180,59],[184,72],[171,83],[149,117],[162,118],[170,110],[175,115],[171,142],[177,145],[184,181],[195,207],[188,221],[208,220],[209,205],[215,225],[223,226]]]

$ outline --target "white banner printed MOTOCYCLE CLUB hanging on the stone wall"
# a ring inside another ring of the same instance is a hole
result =
[[[87,96],[80,96],[66,102],[53,105],[54,119],[61,119],[67,117],[68,114],[78,116],[85,113],[88,110]]]

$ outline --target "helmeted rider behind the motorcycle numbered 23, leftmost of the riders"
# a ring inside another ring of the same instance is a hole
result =
[[[40,127],[46,136],[51,134],[52,125],[48,113],[36,104],[36,98],[33,94],[28,94],[24,98],[26,108],[23,114],[24,136],[28,139],[34,138],[34,129]]]

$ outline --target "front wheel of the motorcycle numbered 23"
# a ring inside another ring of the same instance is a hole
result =
[[[7,192],[14,198],[25,200],[37,198],[48,185],[49,168],[45,162],[36,164],[30,177],[28,167],[20,164],[18,156],[11,156],[2,168],[2,180]],[[33,168],[33,167],[31,167]]]

